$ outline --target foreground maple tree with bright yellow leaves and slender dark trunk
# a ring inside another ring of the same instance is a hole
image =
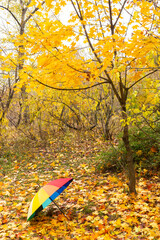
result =
[[[37,4],[33,1],[31,6]],[[66,4],[72,10],[64,25],[52,15],[58,16]],[[60,0],[46,5],[48,12],[40,11],[23,36],[30,62],[21,71],[19,88],[26,82],[37,92],[45,87],[78,91],[110,85],[121,109],[129,189],[136,192],[127,103],[143,81],[153,82],[151,76],[159,69],[159,57],[156,62],[153,58],[159,51],[159,5],[144,0]],[[158,87],[157,79],[154,85]]]

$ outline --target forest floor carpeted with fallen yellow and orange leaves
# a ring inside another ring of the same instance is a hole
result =
[[[49,147],[19,144],[1,149],[0,239],[160,239],[160,179],[137,177],[129,196],[124,173],[100,173],[102,140],[54,139]],[[58,178],[73,182],[55,201],[27,222],[30,202],[40,186]]]

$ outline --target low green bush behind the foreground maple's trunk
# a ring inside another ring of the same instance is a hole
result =
[[[136,169],[160,169],[160,131],[144,127],[141,130],[133,128],[130,132],[130,143],[134,155]],[[97,157],[98,171],[122,171],[126,167],[126,151],[122,141],[117,147],[110,147],[106,152],[100,152]]]

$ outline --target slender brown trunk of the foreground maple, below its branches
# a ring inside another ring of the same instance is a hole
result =
[[[122,117],[125,121],[125,126],[123,128],[123,142],[126,149],[126,162],[127,162],[127,174],[129,180],[129,192],[136,194],[136,178],[135,178],[135,168],[133,161],[133,153],[129,142],[129,128],[127,124],[126,112],[122,113]]]

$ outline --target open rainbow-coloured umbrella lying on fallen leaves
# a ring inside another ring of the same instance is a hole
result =
[[[60,178],[53,180],[40,188],[40,190],[36,193],[30,204],[27,221],[31,220],[51,202],[54,202],[54,199],[58,197],[72,181],[73,178]],[[56,203],[55,205],[58,207]]]

